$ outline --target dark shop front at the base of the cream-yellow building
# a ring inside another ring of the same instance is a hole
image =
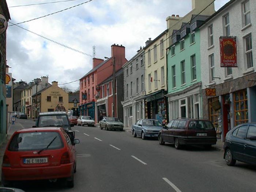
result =
[[[157,119],[162,124],[167,124],[166,91],[161,89],[144,97],[146,119]]]

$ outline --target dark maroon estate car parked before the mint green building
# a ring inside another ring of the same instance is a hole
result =
[[[217,142],[213,124],[207,119],[178,118],[171,120],[158,135],[160,145],[174,144],[176,149],[182,145],[203,145],[210,148]]]

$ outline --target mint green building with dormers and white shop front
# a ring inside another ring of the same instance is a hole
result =
[[[192,15],[190,23],[173,30],[167,53],[169,120],[202,117],[200,31],[208,16]],[[201,39],[202,41],[202,39]]]

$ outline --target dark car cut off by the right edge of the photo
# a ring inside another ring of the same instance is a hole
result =
[[[256,165],[256,123],[240,124],[227,132],[224,143],[226,164],[236,161]]]

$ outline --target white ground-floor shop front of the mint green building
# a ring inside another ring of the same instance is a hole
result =
[[[182,91],[169,93],[167,97],[170,120],[202,117],[201,82]]]

